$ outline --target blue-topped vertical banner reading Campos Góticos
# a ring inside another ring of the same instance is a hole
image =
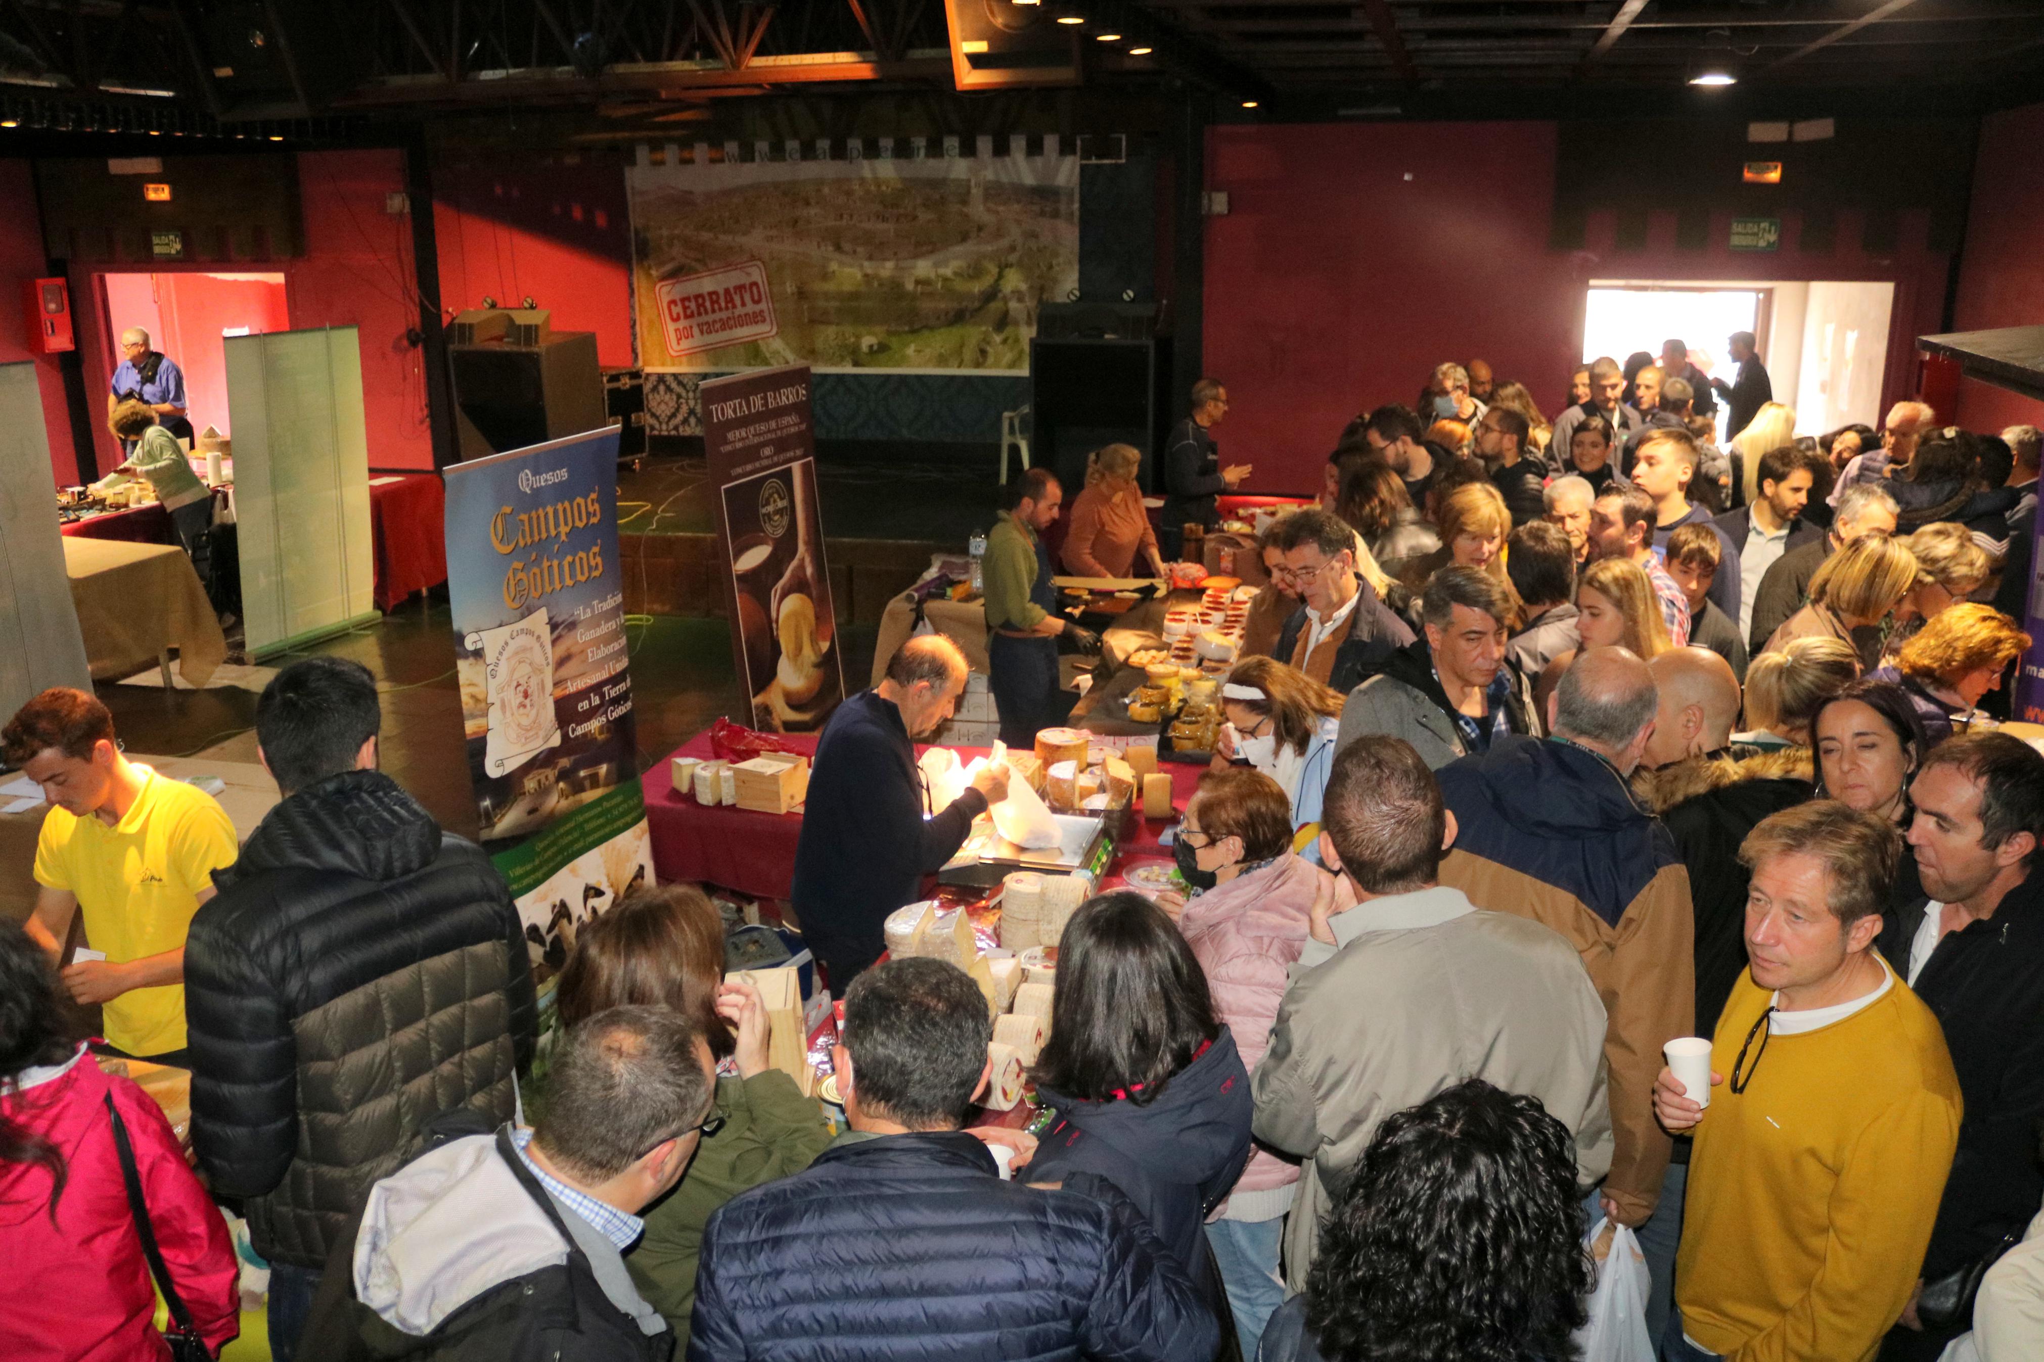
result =
[[[484,841],[540,980],[652,882],[617,578],[617,429],[446,470],[448,594]]]

